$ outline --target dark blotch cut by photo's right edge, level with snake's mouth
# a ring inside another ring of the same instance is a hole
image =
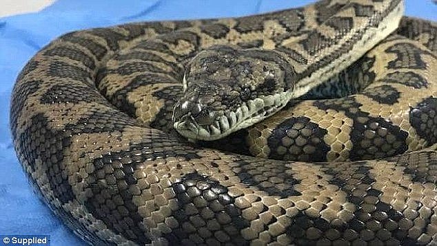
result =
[[[437,142],[437,98],[425,98],[416,107],[410,107],[409,123],[416,133],[427,141],[427,146]]]

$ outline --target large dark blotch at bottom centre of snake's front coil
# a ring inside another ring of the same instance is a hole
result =
[[[249,245],[250,242],[239,232],[249,227],[250,221],[241,216],[241,209],[234,205],[235,197],[229,194],[225,186],[194,172],[184,175],[180,181],[172,184],[172,188],[179,207],[172,212],[172,216],[179,222],[179,226],[172,228],[170,234],[163,234],[170,245],[178,245],[181,242],[195,244],[192,238],[200,238],[207,244],[210,241],[219,243],[219,239],[222,243]],[[192,208],[193,205],[195,208]],[[210,236],[201,236],[198,231],[200,228],[209,231]],[[227,237],[216,238],[214,233],[217,231],[224,232]]]

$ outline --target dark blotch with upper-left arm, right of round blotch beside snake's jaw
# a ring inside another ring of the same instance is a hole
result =
[[[353,144],[349,153],[351,160],[399,155],[408,149],[405,143],[407,132],[384,118],[374,118],[360,111],[362,104],[356,102],[354,96],[319,100],[314,102],[314,106],[322,110],[343,111],[348,118],[354,120],[350,134]]]

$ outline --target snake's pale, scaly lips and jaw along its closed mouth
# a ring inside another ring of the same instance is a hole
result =
[[[178,120],[175,120],[175,117],[173,117],[173,127],[188,139],[203,141],[221,139],[273,115],[281,110],[288,101],[287,92],[263,96],[243,102],[235,111],[209,113],[209,115],[214,115],[214,118],[209,120],[205,120],[205,118],[199,120],[198,115],[188,112],[178,117]]]

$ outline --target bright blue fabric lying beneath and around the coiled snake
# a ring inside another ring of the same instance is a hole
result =
[[[312,0],[314,1],[314,0]],[[32,192],[9,131],[10,91],[43,45],[68,31],[130,21],[241,16],[311,0],[59,0],[41,12],[0,19],[0,234],[50,234],[52,245],[83,245]],[[406,14],[437,20],[432,1],[406,1]]]

